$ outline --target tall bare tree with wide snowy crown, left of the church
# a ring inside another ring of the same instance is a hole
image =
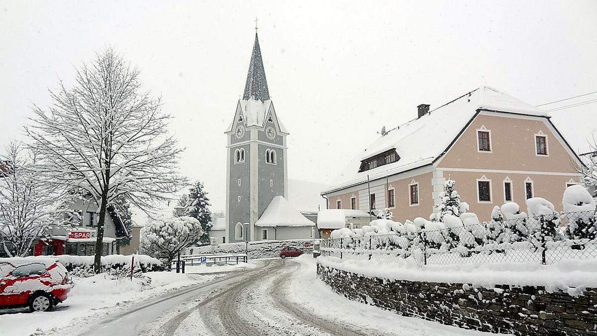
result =
[[[182,149],[168,134],[170,115],[141,91],[139,70],[112,49],[76,71],[72,88],[50,91],[53,105],[35,106],[26,132],[39,152],[39,173],[57,187],[91,195],[99,207],[94,269],[100,271],[108,206],[124,197],[151,211],[182,187]]]

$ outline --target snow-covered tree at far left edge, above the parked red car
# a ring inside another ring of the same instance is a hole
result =
[[[59,224],[59,193],[29,170],[36,155],[18,142],[6,146],[0,161],[0,247],[8,256],[26,256],[35,240]]]

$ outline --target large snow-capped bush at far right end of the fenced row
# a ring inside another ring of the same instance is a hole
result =
[[[595,200],[581,185],[571,185],[562,197],[568,225],[565,235],[568,239],[595,239],[597,221],[595,219]]]

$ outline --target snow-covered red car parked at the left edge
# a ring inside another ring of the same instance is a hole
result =
[[[72,288],[66,268],[54,260],[8,258],[0,261],[0,308],[46,311],[66,300]]]

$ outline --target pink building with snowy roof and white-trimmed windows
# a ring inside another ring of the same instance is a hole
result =
[[[562,210],[562,195],[581,182],[581,163],[545,112],[480,87],[383,134],[322,191],[329,209],[389,207],[395,220],[429,218],[456,181],[481,221],[494,206],[543,197]]]

